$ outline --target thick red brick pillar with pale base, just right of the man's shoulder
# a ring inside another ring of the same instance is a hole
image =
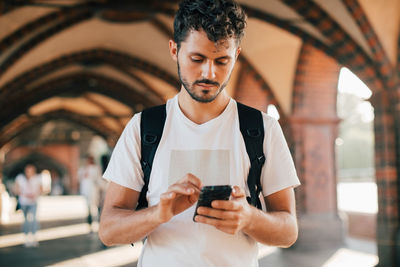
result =
[[[311,45],[300,53],[290,118],[292,151],[302,185],[296,189],[299,239],[296,246],[343,242],[336,196],[335,140],[340,66]]]

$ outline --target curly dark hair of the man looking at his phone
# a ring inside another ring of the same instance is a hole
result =
[[[247,16],[233,0],[183,0],[174,20],[174,41],[178,49],[191,30],[204,30],[218,42],[234,37],[240,43]]]

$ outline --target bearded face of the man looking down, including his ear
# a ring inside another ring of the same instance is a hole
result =
[[[240,53],[235,38],[214,43],[203,30],[190,31],[179,51],[170,41],[170,50],[183,87],[202,103],[212,102],[225,88]]]

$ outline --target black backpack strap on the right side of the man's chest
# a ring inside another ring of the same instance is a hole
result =
[[[237,103],[240,132],[243,135],[246,151],[250,159],[249,176],[247,185],[250,191],[250,197],[247,201],[261,209],[260,192],[262,190],[260,183],[261,169],[265,162],[263,151],[264,143],[264,123],[261,111]]]

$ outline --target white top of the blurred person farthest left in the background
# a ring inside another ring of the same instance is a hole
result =
[[[25,175],[19,174],[15,178],[15,182],[19,187],[19,203],[21,205],[34,205],[40,196],[42,187],[42,178],[40,175],[34,175],[30,179],[27,179]]]

